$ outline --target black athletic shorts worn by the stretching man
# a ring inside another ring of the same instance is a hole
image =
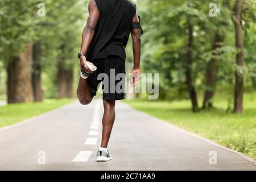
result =
[[[119,56],[89,60],[97,67],[87,78],[91,95],[96,96],[102,83],[103,100],[122,100],[125,98],[125,60]]]

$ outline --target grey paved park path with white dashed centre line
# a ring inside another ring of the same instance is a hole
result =
[[[0,170],[256,170],[236,152],[122,102],[116,105],[110,162],[95,161],[103,108],[94,100],[1,129]],[[217,154],[217,164],[209,163],[209,154]]]

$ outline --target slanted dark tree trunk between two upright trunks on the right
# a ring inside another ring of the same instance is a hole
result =
[[[213,51],[221,47],[221,43],[223,42],[223,37],[219,35],[217,32],[214,37],[213,43]],[[206,91],[205,96],[203,98],[203,108],[213,107],[213,96],[215,91],[215,84],[217,80],[217,72],[218,72],[218,62],[219,60],[215,57],[218,54],[216,52],[213,53],[213,57],[209,61],[206,68]]]

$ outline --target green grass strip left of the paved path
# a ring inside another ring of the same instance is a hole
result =
[[[0,106],[0,128],[13,125],[24,119],[34,117],[47,111],[69,104],[72,99],[47,99],[43,102],[10,104]]]

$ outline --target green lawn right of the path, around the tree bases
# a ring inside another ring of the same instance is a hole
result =
[[[227,113],[231,90],[218,90],[214,108],[191,112],[190,101],[132,100],[126,104],[256,159],[256,92],[244,94],[245,111]],[[225,93],[225,94],[223,94]]]

